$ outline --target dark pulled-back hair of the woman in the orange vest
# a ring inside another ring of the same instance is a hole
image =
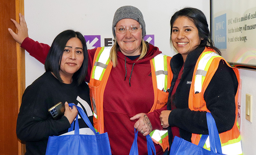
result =
[[[170,41],[172,42],[172,26],[175,20],[179,17],[187,17],[189,18],[196,26],[198,29],[198,35],[199,38],[202,38],[200,46],[205,46],[208,48],[214,49],[219,55],[221,55],[220,50],[214,46],[214,43],[212,41],[211,33],[208,29],[208,24],[206,17],[204,13],[201,10],[198,10],[196,8],[184,8],[181,9],[180,11],[175,12],[172,15],[170,25],[171,25],[171,37]]]

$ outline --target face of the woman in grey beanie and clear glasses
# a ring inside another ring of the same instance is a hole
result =
[[[131,25],[140,25],[134,19],[125,18],[117,22],[116,26],[130,27]],[[142,29],[136,33],[131,33],[129,30],[124,34],[116,33],[116,41],[121,52],[127,56],[140,55],[140,44],[142,41]]]

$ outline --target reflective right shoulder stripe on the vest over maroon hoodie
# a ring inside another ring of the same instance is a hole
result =
[[[165,75],[168,74],[168,72],[164,70],[164,54],[156,55],[154,61],[157,88],[162,90],[164,88]]]

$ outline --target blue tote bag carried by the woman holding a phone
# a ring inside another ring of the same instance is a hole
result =
[[[69,103],[69,107],[75,105]],[[62,136],[49,136],[46,148],[46,155],[111,155],[108,133],[100,134],[93,128],[84,110],[76,106],[81,118],[95,135],[79,134],[78,114],[75,122],[75,134]],[[69,131],[73,130],[74,122],[71,124]]]

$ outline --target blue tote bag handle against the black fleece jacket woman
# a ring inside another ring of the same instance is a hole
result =
[[[211,152],[216,153],[216,150],[217,150],[217,153],[222,154],[219,132],[218,132],[215,120],[212,117],[212,114],[207,112],[206,119],[207,119],[208,131],[209,131]],[[202,135],[198,146],[203,147],[207,137],[208,135]]]

